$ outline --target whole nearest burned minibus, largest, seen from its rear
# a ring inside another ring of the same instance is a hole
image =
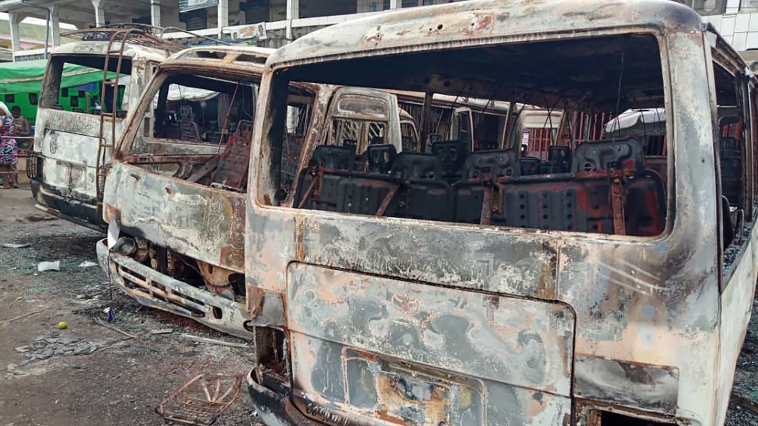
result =
[[[723,424],[758,256],[746,70],[660,0],[455,2],[274,52],[245,234],[254,409],[268,426]],[[520,144],[443,141],[367,168],[308,146],[283,188],[287,87],[305,83],[662,108],[663,176],[636,138],[551,145],[565,163],[529,172]]]

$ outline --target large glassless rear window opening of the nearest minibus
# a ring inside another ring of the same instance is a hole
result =
[[[315,147],[298,172],[292,207],[659,235],[666,229],[666,144],[644,132],[606,129],[625,110],[663,110],[658,46],[654,36],[606,36],[290,67],[274,79],[453,98],[446,107],[431,109],[418,148],[400,151],[397,141],[378,135],[365,151],[332,141]],[[283,93],[274,90],[272,97],[269,116],[283,113]],[[466,110],[463,101],[458,104],[463,98],[498,101],[515,110],[509,115]],[[419,109],[408,108],[423,123]],[[519,126],[518,113],[534,110],[542,111],[541,121],[522,120]],[[445,121],[450,126],[440,124]],[[265,135],[273,146],[281,140],[276,130]],[[659,136],[665,138],[665,130]]]

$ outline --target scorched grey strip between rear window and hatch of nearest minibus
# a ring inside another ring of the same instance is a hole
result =
[[[350,258],[351,269],[377,275],[527,297],[555,296],[557,247],[547,235],[516,235],[505,241],[475,226],[408,227],[389,218],[356,218],[353,227],[319,213],[299,221],[296,253],[302,262],[337,266],[337,260]],[[471,238],[469,232],[484,235]],[[400,234],[406,238],[394,238]],[[355,257],[353,250],[363,255]]]

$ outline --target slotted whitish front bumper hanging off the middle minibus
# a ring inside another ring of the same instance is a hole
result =
[[[244,327],[250,319],[244,303],[196,288],[113,253],[105,239],[98,241],[97,256],[111,281],[139,303],[194,319],[222,333],[252,339],[252,333]]]

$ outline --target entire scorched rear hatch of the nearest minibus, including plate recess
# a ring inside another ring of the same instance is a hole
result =
[[[294,395],[317,418],[559,424],[570,412],[567,306],[300,263],[287,275]]]

